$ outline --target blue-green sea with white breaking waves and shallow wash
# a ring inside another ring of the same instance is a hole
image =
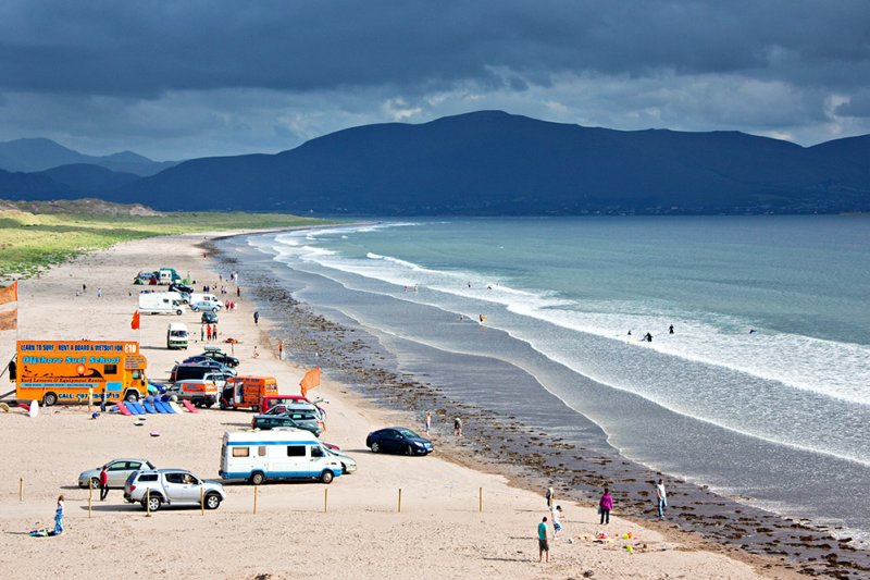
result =
[[[870,541],[868,217],[407,219],[232,245],[455,398],[569,441],[592,423],[632,461]]]

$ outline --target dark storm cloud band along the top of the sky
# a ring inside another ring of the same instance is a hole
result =
[[[425,88],[495,82],[493,67],[539,77],[741,72],[848,88],[866,82],[856,67],[870,72],[865,1],[4,4],[0,82],[13,90]]]

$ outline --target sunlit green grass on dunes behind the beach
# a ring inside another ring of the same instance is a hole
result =
[[[325,225],[283,213],[179,212],[159,215],[0,211],[0,276],[32,277],[79,254],[160,235]]]

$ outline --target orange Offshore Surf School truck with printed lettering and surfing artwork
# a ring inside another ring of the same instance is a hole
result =
[[[135,400],[148,394],[139,343],[128,341],[18,341],[10,380],[20,400],[87,404]]]

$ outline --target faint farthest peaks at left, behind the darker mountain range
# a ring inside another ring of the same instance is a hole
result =
[[[82,163],[139,176],[153,175],[177,164],[176,161],[152,161],[133,151],[104,157],[89,156],[45,138],[0,143],[0,169],[10,172],[37,172]]]

